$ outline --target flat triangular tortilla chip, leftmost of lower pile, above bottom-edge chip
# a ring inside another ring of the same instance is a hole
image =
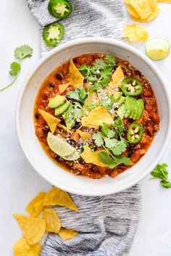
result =
[[[46,231],[46,221],[25,215],[14,214],[28,244],[37,244]]]

